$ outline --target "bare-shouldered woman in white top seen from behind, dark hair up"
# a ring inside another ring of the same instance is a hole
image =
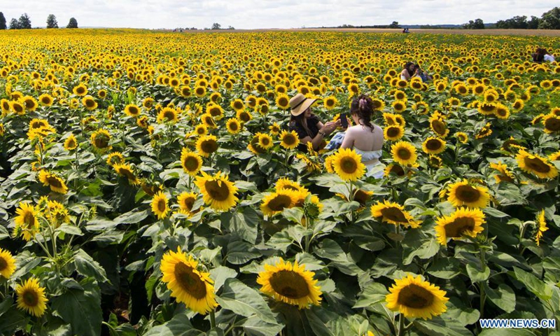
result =
[[[354,98],[350,106],[350,114],[355,126],[348,127],[340,148],[353,148],[361,155],[362,163],[367,168],[366,176],[376,179],[383,177],[383,169],[374,169],[381,165],[381,148],[383,148],[383,130],[371,122],[373,102],[370,97],[361,94]]]

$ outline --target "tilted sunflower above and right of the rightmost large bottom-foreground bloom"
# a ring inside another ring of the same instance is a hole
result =
[[[447,245],[448,238],[461,239],[465,235],[476,237],[484,230],[482,224],[486,221],[480,209],[458,208],[449,216],[437,217],[435,223],[437,241]]]

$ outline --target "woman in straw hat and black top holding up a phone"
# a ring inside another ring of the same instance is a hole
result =
[[[290,117],[290,131],[295,131],[297,137],[300,138],[298,149],[302,152],[307,152],[308,142],[311,142],[313,149],[317,151],[323,142],[323,138],[340,125],[340,120],[337,120],[336,123],[330,121],[323,125],[317,116],[311,113],[311,105],[315,101],[316,99],[306,98],[301,93],[296,94],[290,99],[292,113]]]

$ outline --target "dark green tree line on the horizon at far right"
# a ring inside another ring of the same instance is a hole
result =
[[[507,20],[498,20],[495,25],[484,25],[481,19],[470,20],[463,24],[464,29],[560,29],[560,8],[554,7],[546,13],[542,13],[540,18],[531,15],[531,20],[527,20],[526,15],[516,15]]]

